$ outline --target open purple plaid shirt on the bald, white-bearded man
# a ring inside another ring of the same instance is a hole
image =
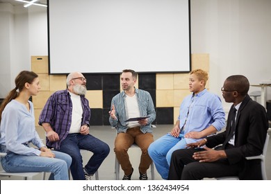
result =
[[[85,96],[81,97],[83,108],[81,125],[90,125],[90,107]],[[50,96],[40,113],[39,125],[50,123],[53,130],[58,134],[59,141],[49,141],[46,139],[46,145],[58,150],[61,142],[69,134],[69,128],[72,123],[72,99],[67,89],[56,91]]]

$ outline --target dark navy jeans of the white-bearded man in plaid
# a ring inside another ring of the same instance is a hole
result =
[[[109,146],[94,136],[80,133],[68,134],[66,139],[60,145],[60,152],[65,152],[72,157],[72,165],[70,167],[72,179],[83,180],[85,173],[83,171],[83,159],[80,150],[89,150],[93,152],[92,157],[85,165],[85,171],[88,175],[94,175],[101,163],[110,152]]]

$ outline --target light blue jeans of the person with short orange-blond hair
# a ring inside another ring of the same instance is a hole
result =
[[[172,152],[186,148],[186,139],[182,130],[179,137],[165,134],[149,145],[148,153],[156,166],[156,170],[163,179],[167,179],[170,171],[170,159]]]

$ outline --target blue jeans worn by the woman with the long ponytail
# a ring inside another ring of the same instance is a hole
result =
[[[68,180],[68,169],[72,164],[72,158],[62,152],[52,152],[56,155],[55,158],[7,152],[5,157],[1,157],[1,164],[3,170],[8,173],[50,172],[49,179]]]

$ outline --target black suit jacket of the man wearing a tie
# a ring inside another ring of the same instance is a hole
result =
[[[228,118],[233,115],[233,105],[229,111]],[[220,145],[229,136],[231,121],[227,121],[226,130],[215,136],[207,138],[206,146],[214,148]],[[233,148],[226,147],[227,160],[229,164],[240,165],[240,179],[262,179],[261,161],[246,160],[245,157],[261,155],[268,130],[268,117],[265,108],[252,100],[248,95],[238,109],[236,117],[235,145]]]

